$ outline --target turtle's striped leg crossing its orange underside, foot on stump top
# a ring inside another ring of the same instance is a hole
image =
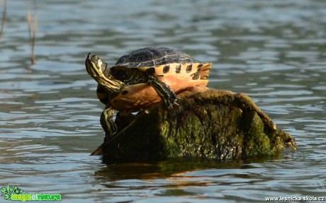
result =
[[[172,89],[164,82],[160,81],[157,76],[150,75],[148,76],[148,81],[154,90],[157,92],[157,94],[162,98],[164,101],[164,104],[167,107],[172,107],[172,105],[176,104],[176,100],[179,99],[179,97],[172,91]]]

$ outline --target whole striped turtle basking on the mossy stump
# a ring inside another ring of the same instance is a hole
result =
[[[161,100],[171,108],[186,88],[207,85],[213,64],[169,47],[145,47],[123,55],[111,68],[89,53],[85,66],[99,83],[97,97],[106,105],[100,121],[108,141],[117,132],[114,110],[139,111]]]

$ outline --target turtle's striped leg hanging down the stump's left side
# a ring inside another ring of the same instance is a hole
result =
[[[114,134],[118,132],[118,127],[116,126],[116,122],[113,120],[114,110],[111,106],[106,106],[101,114],[101,126],[106,133],[106,137],[104,138],[104,142],[108,142]]]

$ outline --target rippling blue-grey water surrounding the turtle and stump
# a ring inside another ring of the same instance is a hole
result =
[[[60,193],[62,202],[325,197],[325,6],[317,0],[38,1],[37,64],[30,65],[25,4],[9,1],[0,41],[0,187]],[[113,64],[125,52],[159,45],[213,62],[210,88],[249,94],[296,137],[298,151],[225,163],[110,166],[89,156],[103,139],[103,105],[84,69],[86,54]]]

